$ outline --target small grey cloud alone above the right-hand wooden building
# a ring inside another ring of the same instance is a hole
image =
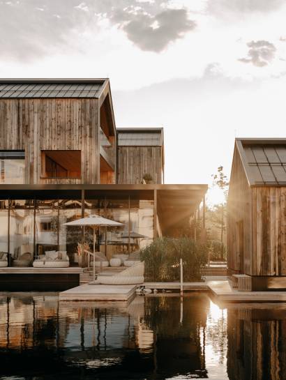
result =
[[[250,48],[248,58],[239,59],[243,63],[253,63],[254,66],[263,67],[267,66],[275,56],[276,47],[269,41],[251,41],[247,45]]]

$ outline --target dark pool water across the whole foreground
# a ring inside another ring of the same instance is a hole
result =
[[[0,294],[0,379],[286,379],[286,305]]]

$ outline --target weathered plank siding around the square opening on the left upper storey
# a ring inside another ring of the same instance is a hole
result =
[[[0,100],[0,149],[24,149],[25,181],[36,183],[98,183],[97,99]],[[41,178],[45,149],[82,152],[82,179]]]

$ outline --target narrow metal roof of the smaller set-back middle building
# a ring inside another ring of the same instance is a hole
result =
[[[117,128],[118,146],[163,146],[163,128]]]

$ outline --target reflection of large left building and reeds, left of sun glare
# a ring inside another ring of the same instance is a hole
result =
[[[0,298],[2,377],[165,379],[207,377],[204,341],[209,300],[137,297],[127,308],[59,303],[57,294]],[[158,305],[162,306],[158,315]]]

